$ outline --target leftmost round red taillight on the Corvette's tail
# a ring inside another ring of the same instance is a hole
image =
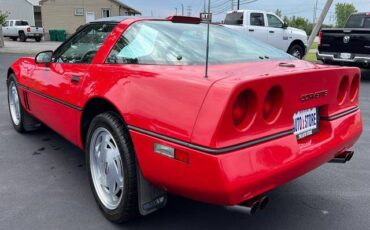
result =
[[[234,102],[232,109],[233,125],[240,131],[250,127],[256,117],[256,95],[251,90],[242,92]]]

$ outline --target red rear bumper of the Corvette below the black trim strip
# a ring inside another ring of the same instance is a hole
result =
[[[362,132],[360,111],[321,120],[320,132],[303,140],[294,134],[212,155],[130,130],[138,162],[151,183],[191,199],[236,205],[330,161],[351,148]],[[153,152],[154,143],[189,154],[183,163]]]

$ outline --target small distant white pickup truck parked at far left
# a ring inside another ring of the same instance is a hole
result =
[[[44,29],[30,26],[25,20],[8,20],[3,24],[3,35],[16,41],[26,42],[28,38],[40,42],[44,36]]]

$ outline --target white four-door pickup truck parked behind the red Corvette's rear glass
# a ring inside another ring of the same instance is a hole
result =
[[[305,31],[288,27],[274,13],[255,10],[237,10],[226,14],[224,26],[268,43],[278,49],[302,59],[307,49]]]

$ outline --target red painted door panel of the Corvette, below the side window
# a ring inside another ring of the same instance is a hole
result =
[[[28,96],[31,112],[50,128],[75,142],[81,116],[81,86],[90,65],[38,64]]]

